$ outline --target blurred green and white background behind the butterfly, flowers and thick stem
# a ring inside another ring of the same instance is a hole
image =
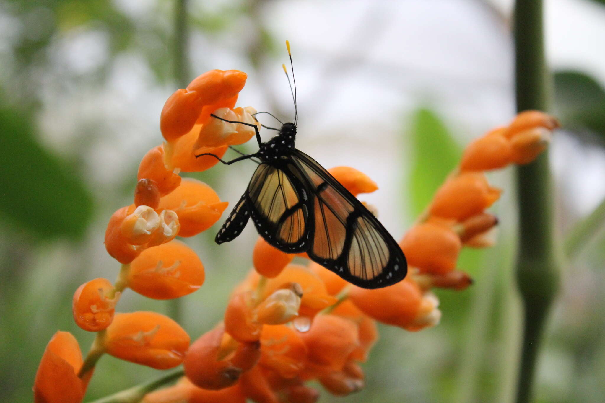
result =
[[[94,335],[73,323],[71,297],[87,280],[117,276],[119,265],[103,247],[105,225],[131,203],[138,163],[162,141],[159,114],[176,88],[208,69],[241,69],[249,80],[238,105],[292,118],[281,71],[289,39],[297,147],[326,167],[353,166],[376,180],[381,189],[362,199],[378,207],[399,238],[463,146],[514,115],[511,5],[2,1],[0,400],[31,401],[38,361],[56,330],[72,332],[87,351]],[[555,114],[563,123],[551,165],[564,244],[605,197],[605,5],[548,2],[546,35]],[[252,170],[241,163],[190,176],[233,204]],[[493,208],[497,245],[465,250],[459,262],[475,285],[437,292],[443,318],[433,329],[381,326],[364,365],[365,390],[347,398],[323,393],[321,402],[512,401],[521,324],[511,173],[489,175],[505,189]],[[605,396],[602,219],[591,220],[589,242],[561,249],[562,285],[538,362],[537,402]],[[186,240],[206,266],[205,285],[183,298],[181,324],[192,338],[220,320],[252,261],[253,228],[218,247],[218,225]],[[167,313],[169,305],[126,291],[118,309]],[[103,357],[87,401],[158,374]]]

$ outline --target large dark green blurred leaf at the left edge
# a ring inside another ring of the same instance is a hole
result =
[[[67,164],[34,140],[30,118],[0,106],[0,217],[40,237],[82,236],[93,201]]]

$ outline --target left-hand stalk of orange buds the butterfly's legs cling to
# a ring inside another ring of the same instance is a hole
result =
[[[179,89],[166,102],[160,120],[165,143],[143,156],[134,202],[119,208],[107,225],[105,247],[122,263],[115,283],[94,279],[73,296],[73,317],[83,330],[97,332],[86,359],[73,336],[58,332],[48,344],[34,383],[36,402],[80,402],[97,360],[105,353],[156,369],[183,363],[189,335],[175,321],[155,312],[115,313],[126,288],[154,299],[179,298],[204,283],[200,258],[176,236],[191,237],[211,227],[223,214],[211,187],[180,172],[199,172],[223,155],[230,144],[254,135],[253,128],[210,120],[215,113],[254,123],[252,108],[234,107],[246,74],[213,70]]]

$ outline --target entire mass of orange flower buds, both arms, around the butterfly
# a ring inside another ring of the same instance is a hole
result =
[[[460,250],[463,245],[491,245],[497,224],[485,210],[500,190],[488,184],[483,171],[528,163],[557,127],[548,115],[530,111],[470,144],[459,168],[399,243],[411,275],[395,285],[352,286],[317,263],[293,263],[296,256],[259,238],[252,253],[254,269],[234,289],[224,320],[190,346],[189,335],[171,318],[155,312],[115,313],[115,308],[126,288],[170,299],[203,284],[203,264],[175,237],[207,230],[227,203],[208,185],[179,173],[217,163],[212,156],[195,155],[222,156],[228,146],[253,137],[247,124],[210,116],[258,124],[253,108],[234,109],[245,81],[241,71],[212,70],[168,98],[160,118],[165,143],[143,157],[134,203],[111,216],[105,233],[106,250],[122,263],[120,274],[113,284],[91,280],[73,296],[77,325],[97,332],[93,346],[82,359],[75,338],[57,332],[36,374],[36,402],[81,402],[105,353],[155,369],[183,364],[185,377],[148,393],[146,403],[310,403],[319,397],[307,386],[310,380],[336,396],[356,392],[364,387],[360,364],[378,340],[377,322],[409,331],[434,326],[441,312],[431,289],[463,289],[471,283],[456,270]],[[355,196],[378,189],[353,168],[336,167],[330,173]],[[304,253],[298,257],[307,258]]]

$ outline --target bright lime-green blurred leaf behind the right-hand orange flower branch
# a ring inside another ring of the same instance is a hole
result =
[[[410,212],[415,217],[427,207],[437,188],[456,167],[460,147],[443,121],[426,108],[414,112],[409,137],[411,169],[408,192]]]

